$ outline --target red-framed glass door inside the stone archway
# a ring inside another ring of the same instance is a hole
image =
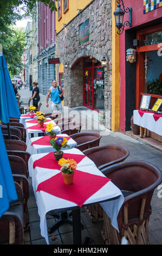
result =
[[[83,105],[104,110],[104,70],[94,58],[83,58]]]

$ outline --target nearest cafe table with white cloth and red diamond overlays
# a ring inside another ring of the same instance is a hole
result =
[[[122,192],[106,178],[79,149],[64,150],[63,158],[74,159],[77,167],[73,185],[64,185],[60,166],[53,153],[31,155],[29,175],[40,215],[41,235],[48,240],[46,214],[53,210],[56,214],[72,210],[73,242],[81,245],[80,208],[89,204],[100,203],[111,223],[118,229],[117,216],[124,202]],[[106,202],[105,202],[106,201]]]

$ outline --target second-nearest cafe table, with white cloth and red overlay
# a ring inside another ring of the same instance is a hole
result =
[[[57,135],[56,137],[65,137],[68,140],[67,145],[69,146],[69,148],[66,147],[61,150],[73,149],[77,146],[77,143],[74,141],[74,139],[69,137],[67,134]],[[50,145],[49,136],[42,136],[42,137],[30,138],[29,143],[27,145],[27,151],[31,155],[34,155],[34,154],[54,152],[56,150]]]

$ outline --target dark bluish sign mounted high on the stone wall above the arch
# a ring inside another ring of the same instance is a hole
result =
[[[79,26],[79,44],[89,41],[89,20]]]

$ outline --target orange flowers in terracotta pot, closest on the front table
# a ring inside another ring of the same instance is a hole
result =
[[[74,170],[76,169],[77,163],[73,159],[60,159],[59,165],[61,167],[61,172],[64,180],[64,184],[73,184]]]

